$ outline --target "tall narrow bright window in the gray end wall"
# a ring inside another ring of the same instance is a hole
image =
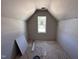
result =
[[[38,16],[38,33],[46,33],[46,16]]]

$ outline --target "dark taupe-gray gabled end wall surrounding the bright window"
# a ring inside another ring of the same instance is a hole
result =
[[[38,16],[46,16],[46,33],[38,33]],[[30,40],[55,40],[57,36],[57,20],[48,10],[36,10],[26,21]]]

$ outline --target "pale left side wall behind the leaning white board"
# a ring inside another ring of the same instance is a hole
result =
[[[24,34],[24,21],[1,18],[1,59],[11,59],[14,40]]]

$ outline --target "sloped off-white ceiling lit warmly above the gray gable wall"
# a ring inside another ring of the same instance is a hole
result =
[[[1,16],[25,20],[42,7],[58,20],[77,18],[78,0],[2,0]]]

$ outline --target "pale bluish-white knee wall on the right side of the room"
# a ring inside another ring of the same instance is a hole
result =
[[[58,42],[72,59],[78,59],[78,19],[59,21]]]

